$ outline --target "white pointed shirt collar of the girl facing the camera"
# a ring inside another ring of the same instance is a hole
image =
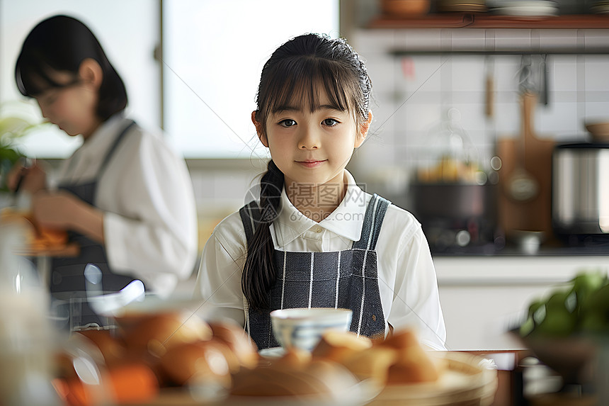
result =
[[[319,225],[334,234],[351,241],[361,237],[362,225],[366,211],[366,203],[370,196],[357,184],[353,176],[345,169],[347,193],[341,204],[324,220],[315,222],[300,213],[290,202],[285,187],[281,191],[281,209],[278,217],[271,225],[271,235],[278,247],[285,247],[297,237],[300,237],[314,225]]]

